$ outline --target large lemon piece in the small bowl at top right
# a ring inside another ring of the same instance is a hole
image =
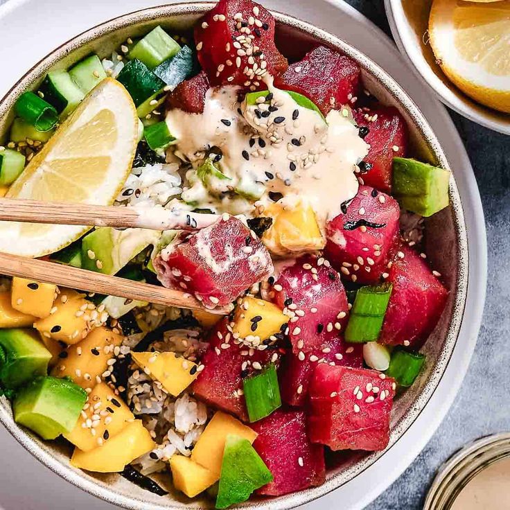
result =
[[[429,33],[437,61],[459,89],[510,113],[510,0],[434,0]]]

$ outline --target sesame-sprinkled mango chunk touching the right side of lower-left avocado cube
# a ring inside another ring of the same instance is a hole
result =
[[[128,423],[134,421],[130,408],[106,383],[100,383],[94,387],[83,412],[85,415],[80,415],[75,428],[69,434],[64,434],[67,441],[83,452],[89,452],[98,446],[105,445],[107,441],[112,441],[112,438]],[[87,420],[90,420],[89,424],[94,421],[98,423],[92,428],[87,425]]]

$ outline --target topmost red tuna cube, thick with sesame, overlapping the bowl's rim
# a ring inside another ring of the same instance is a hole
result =
[[[198,22],[195,42],[211,85],[261,89],[266,73],[277,76],[288,67],[274,44],[274,18],[251,0],[220,0]]]

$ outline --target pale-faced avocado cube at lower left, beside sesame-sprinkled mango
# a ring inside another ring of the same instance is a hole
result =
[[[16,423],[55,439],[71,432],[87,401],[87,392],[71,380],[45,376],[21,389],[12,403]]]

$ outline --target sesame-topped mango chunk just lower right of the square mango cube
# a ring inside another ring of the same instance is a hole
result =
[[[69,345],[80,342],[94,327],[91,313],[96,308],[93,303],[81,296],[82,294],[60,292],[53,303],[56,308],[54,313],[38,320],[35,328],[42,335]]]

